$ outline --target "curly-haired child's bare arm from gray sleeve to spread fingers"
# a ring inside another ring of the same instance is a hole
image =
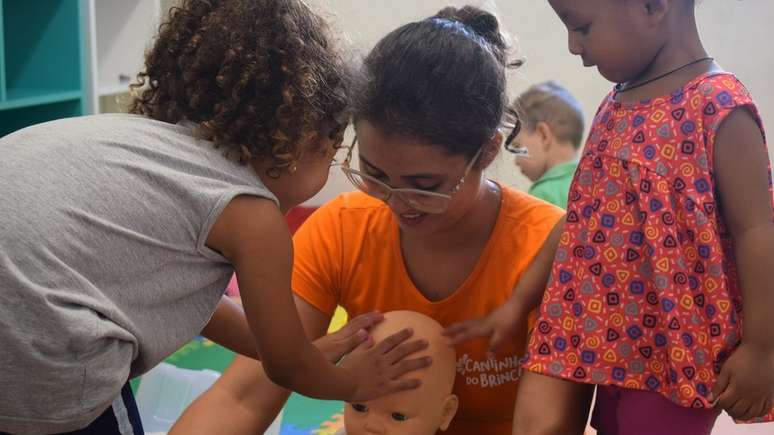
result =
[[[416,388],[416,380],[401,375],[429,365],[428,359],[403,358],[426,346],[401,345],[405,330],[347,357],[340,367],[328,362],[304,333],[290,290],[293,264],[290,233],[276,205],[240,196],[225,208],[212,228],[207,245],[229,259],[236,269],[247,321],[269,378],[309,397],[367,401]]]

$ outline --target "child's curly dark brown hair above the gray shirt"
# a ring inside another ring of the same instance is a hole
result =
[[[350,67],[300,0],[184,0],[159,27],[130,112],[188,120],[227,157],[288,167],[340,143]],[[325,133],[321,133],[325,132]]]

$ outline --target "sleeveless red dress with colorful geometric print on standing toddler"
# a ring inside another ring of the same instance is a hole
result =
[[[742,310],[713,143],[734,109],[757,111],[726,73],[638,104],[614,98],[597,112],[570,188],[525,368],[709,407]]]

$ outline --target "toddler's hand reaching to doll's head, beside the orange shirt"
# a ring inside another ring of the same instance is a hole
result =
[[[528,313],[524,313],[513,301],[508,301],[486,317],[455,323],[444,331],[452,345],[489,338],[489,353],[495,354],[500,347],[523,331]]]

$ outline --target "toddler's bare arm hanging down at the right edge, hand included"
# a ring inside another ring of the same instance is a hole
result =
[[[763,136],[751,114],[731,113],[716,136],[715,174],[734,241],[743,331],[709,400],[740,420],[767,414],[774,399],[774,224],[766,162]]]

